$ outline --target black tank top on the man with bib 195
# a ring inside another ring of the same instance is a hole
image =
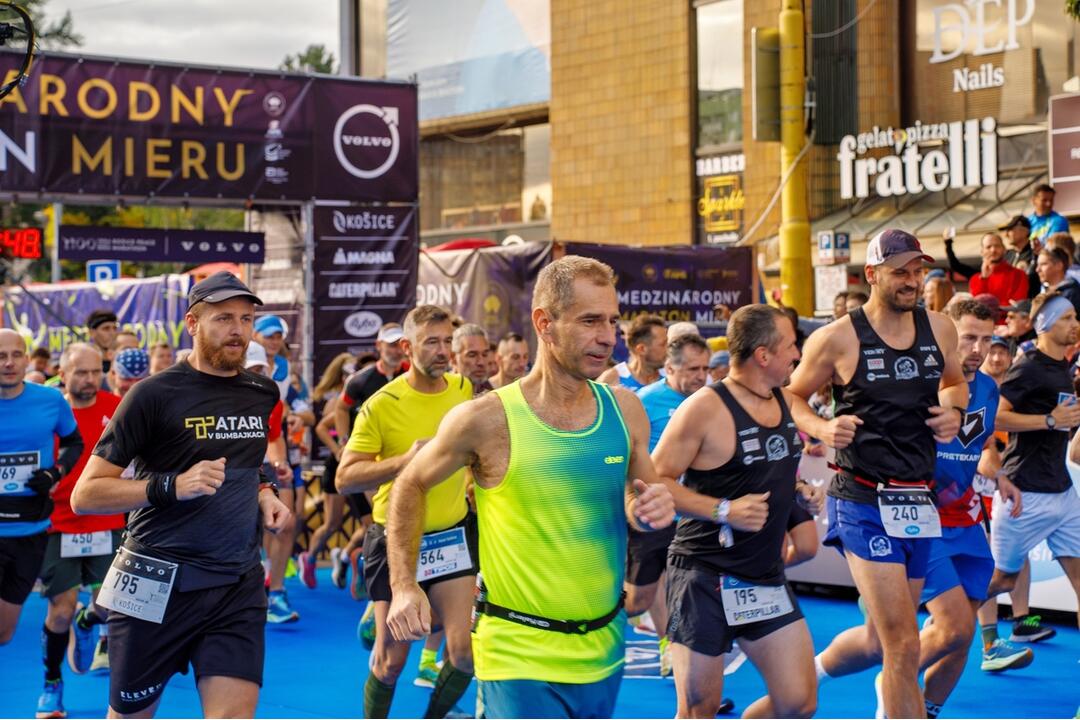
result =
[[[720,526],[685,517],[675,531],[671,560],[678,567],[697,567],[753,583],[779,585],[784,582],[780,552],[795,502],[795,472],[802,456],[802,440],[779,390],[773,390],[773,395],[780,403],[780,423],[765,427],[750,417],[723,381],[710,388],[734,419],[734,453],[720,467],[687,470],[684,484],[694,492],[728,500],[752,492],[770,492],[769,518],[758,532],[732,528],[734,543],[725,547],[720,542]]]

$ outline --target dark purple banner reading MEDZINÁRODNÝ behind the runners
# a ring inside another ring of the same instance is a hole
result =
[[[623,318],[643,313],[669,323],[714,320],[713,308],[753,303],[754,253],[750,247],[622,247],[569,243],[567,255],[583,255],[616,272]]]

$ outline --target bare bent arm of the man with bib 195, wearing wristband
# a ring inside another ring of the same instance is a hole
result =
[[[711,395],[715,395],[712,390],[701,390],[679,405],[652,451],[652,462],[660,479],[675,499],[675,512],[684,517],[701,520],[713,519],[716,498],[679,485],[678,478],[698,458],[708,431],[715,432],[719,437],[734,435],[731,413],[721,409],[720,404]],[[723,449],[716,458],[716,466],[731,460],[733,452],[734,446]]]

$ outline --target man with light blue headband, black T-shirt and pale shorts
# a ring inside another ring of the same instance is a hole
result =
[[[1080,425],[1065,357],[1080,323],[1072,303],[1056,294],[1038,296],[1031,313],[1035,348],[1013,364],[1001,384],[998,427],[1011,433],[1002,473],[1020,488],[1021,499],[1003,501],[1000,491],[994,498],[989,594],[1011,590],[1027,554],[1045,540],[1080,596],[1080,495],[1062,458],[1069,431]],[[1074,462],[1080,460],[1080,440],[1074,439],[1068,451]]]

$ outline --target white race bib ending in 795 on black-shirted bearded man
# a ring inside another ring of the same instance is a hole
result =
[[[102,583],[96,604],[131,617],[161,623],[176,582],[175,562],[121,546]]]

